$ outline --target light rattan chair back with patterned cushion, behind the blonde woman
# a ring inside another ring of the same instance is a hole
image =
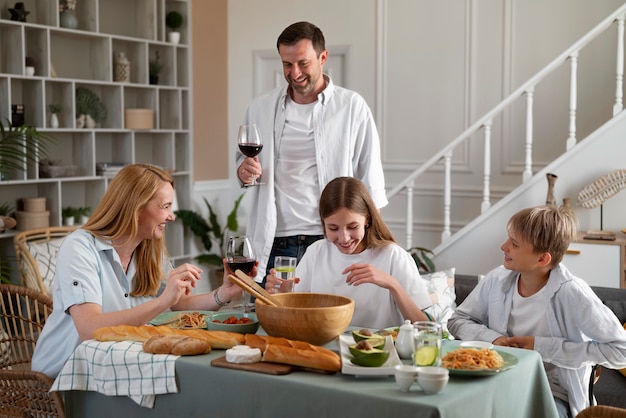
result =
[[[52,282],[59,246],[75,227],[51,226],[20,232],[13,238],[23,286],[52,296]]]

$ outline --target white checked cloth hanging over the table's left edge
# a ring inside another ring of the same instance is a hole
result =
[[[84,341],[65,363],[50,391],[88,390],[128,396],[152,408],[155,395],[178,392],[177,358],[145,353],[138,342]]]

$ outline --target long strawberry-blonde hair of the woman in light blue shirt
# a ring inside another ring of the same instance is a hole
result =
[[[167,182],[174,179],[166,171],[149,164],[131,164],[113,178],[98,207],[83,229],[102,240],[114,241],[137,236],[139,212]],[[165,277],[163,257],[167,257],[165,237],[141,241],[135,249],[137,272],[131,296],[156,295]]]

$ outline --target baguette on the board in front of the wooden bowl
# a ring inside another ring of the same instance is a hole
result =
[[[261,361],[290,364],[331,372],[341,370],[341,358],[324,347],[287,338],[246,334],[246,345],[263,352]]]

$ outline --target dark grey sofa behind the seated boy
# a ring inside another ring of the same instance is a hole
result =
[[[476,276],[455,275],[456,304],[461,304],[478,283]],[[598,297],[615,313],[620,322],[626,323],[626,289],[591,287]],[[600,367],[600,379],[593,385],[593,395],[599,405],[626,408],[626,376],[618,370]]]

